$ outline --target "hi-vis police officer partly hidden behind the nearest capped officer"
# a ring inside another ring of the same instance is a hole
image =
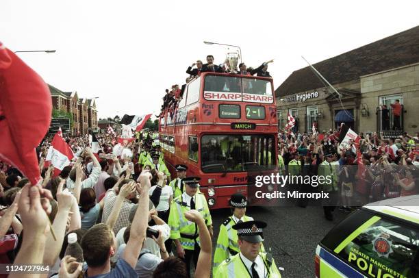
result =
[[[212,273],[216,273],[218,266],[227,258],[239,253],[237,231],[233,229],[233,225],[246,221],[251,221],[253,218],[246,216],[246,197],[240,193],[234,193],[230,198],[231,212],[233,215],[227,218],[223,224],[220,225],[220,233],[216,244],[216,251],[214,254],[214,268]]]

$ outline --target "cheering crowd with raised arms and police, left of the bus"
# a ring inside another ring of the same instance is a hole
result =
[[[259,253],[266,223],[245,215],[244,195],[231,197],[233,214],[220,227],[229,232],[217,240],[227,245],[217,244],[212,268],[212,218],[200,178],[183,164],[170,177],[157,133],[141,132],[120,156],[113,154],[117,136],[97,135],[98,153],[88,136],[63,138],[75,158],[62,170],[45,160],[52,140],[45,138],[36,185],[1,162],[1,263],[40,264],[47,277],[235,277],[231,266],[280,277],[272,257]],[[81,260],[68,255],[74,242]]]

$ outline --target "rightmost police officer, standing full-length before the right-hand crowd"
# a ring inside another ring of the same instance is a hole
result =
[[[325,161],[318,166],[318,176],[322,176],[325,182],[322,184],[322,190],[329,192],[329,199],[323,200],[323,211],[325,218],[333,221],[332,212],[335,210],[335,202],[338,199],[338,175],[333,164],[333,153],[325,153]]]

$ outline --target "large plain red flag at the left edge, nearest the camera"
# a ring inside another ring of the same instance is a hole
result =
[[[35,148],[49,129],[52,101],[45,81],[0,42],[0,159],[40,180]]]

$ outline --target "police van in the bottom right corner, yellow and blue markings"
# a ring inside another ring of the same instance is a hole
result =
[[[318,244],[316,277],[419,278],[419,195],[370,203]]]

